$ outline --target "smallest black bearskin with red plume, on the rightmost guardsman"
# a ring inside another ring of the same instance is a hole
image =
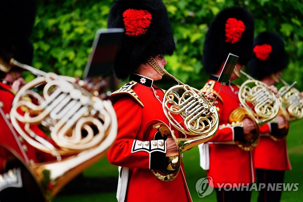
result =
[[[273,32],[262,32],[254,40],[253,56],[248,71],[256,79],[263,79],[286,68],[284,42]]]

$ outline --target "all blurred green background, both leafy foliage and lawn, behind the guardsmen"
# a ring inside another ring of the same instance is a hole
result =
[[[35,48],[32,66],[45,72],[81,77],[96,30],[106,28],[112,2],[113,0],[38,0],[37,18],[31,36]],[[182,82],[197,89],[204,86],[208,75],[205,75],[201,58],[208,25],[221,9],[241,5],[255,18],[255,36],[263,31],[271,31],[284,39],[289,63],[282,78],[288,83],[297,81],[296,88],[303,90],[302,1],[164,0],[164,3],[168,9],[177,47],[175,54],[167,58],[168,65],[165,68]],[[33,78],[30,73],[25,74],[26,81]],[[243,80],[245,78],[236,82],[241,84]],[[168,89],[175,85],[175,81],[164,76],[158,85]],[[293,170],[286,172],[286,183],[303,182],[302,124],[303,121],[300,120],[292,123],[290,127],[288,149]],[[199,167],[198,148],[184,153],[184,163],[193,200],[215,201],[214,192],[205,198],[199,198],[195,191],[197,180],[206,176],[205,171]],[[105,157],[69,183],[54,201],[116,201],[117,176],[118,168],[109,164]],[[80,186],[80,189],[71,191],[72,184],[77,185],[79,182],[82,187],[83,182],[97,182],[97,187],[85,192]],[[256,197],[257,193],[253,192],[251,201],[256,201]],[[303,190],[299,185],[296,192],[283,192],[282,201],[301,201],[302,197]]]

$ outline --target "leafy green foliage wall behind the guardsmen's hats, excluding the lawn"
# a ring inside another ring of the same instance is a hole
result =
[[[106,28],[113,0],[45,0],[38,2],[32,33],[35,56],[33,66],[46,72],[82,76],[95,31]],[[254,15],[255,36],[276,32],[284,39],[288,68],[283,79],[297,81],[303,90],[303,3],[296,0],[164,0],[176,41],[175,54],[168,57],[166,69],[182,82],[200,89],[208,79],[202,64],[202,49],[208,25],[223,8],[241,5]],[[166,77],[166,76],[165,76]],[[27,80],[32,76],[27,74]],[[165,78],[162,88],[174,85]]]

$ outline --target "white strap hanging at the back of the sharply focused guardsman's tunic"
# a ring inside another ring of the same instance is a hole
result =
[[[118,189],[117,189],[117,199],[118,202],[124,202],[127,182],[128,182],[128,169],[127,167],[119,166],[119,180],[118,180]]]

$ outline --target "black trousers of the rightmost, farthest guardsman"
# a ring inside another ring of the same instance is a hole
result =
[[[258,202],[279,202],[282,190],[268,189],[268,184],[283,183],[285,171],[256,169],[257,184],[265,184],[265,188],[259,191]]]

